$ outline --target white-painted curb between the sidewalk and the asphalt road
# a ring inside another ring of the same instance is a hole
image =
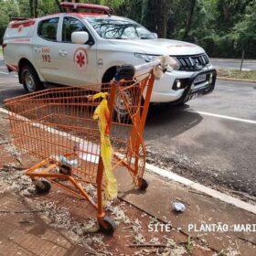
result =
[[[0,108],[0,112],[3,112],[5,114],[8,113],[8,111],[3,109],[3,108]],[[54,131],[53,131],[53,133],[54,133]],[[203,193],[207,194],[210,197],[219,199],[219,200],[221,200],[225,203],[228,203],[229,205],[233,205],[237,208],[242,208],[242,209],[244,209],[246,211],[249,211],[249,212],[256,215],[256,206],[253,206],[249,203],[241,201],[240,199],[238,199],[236,197],[228,196],[228,195],[223,194],[223,193],[221,193],[217,190],[214,190],[210,187],[206,187],[206,186],[203,186],[203,185],[201,185],[197,182],[194,182],[194,181],[192,181],[188,178],[185,178],[183,176],[178,176],[178,175],[176,175],[175,173],[173,173],[171,171],[166,171],[164,169],[161,169],[161,168],[159,168],[155,165],[145,164],[145,169],[148,172],[151,172],[151,173],[154,173],[158,176],[163,176],[167,179],[176,181],[176,182],[178,182],[180,184],[183,184],[187,187],[191,187],[191,188],[193,188],[197,191],[203,192]]]

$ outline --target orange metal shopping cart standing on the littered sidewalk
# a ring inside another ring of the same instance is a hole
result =
[[[147,187],[144,123],[155,80],[152,69],[158,64],[125,66],[115,80],[101,85],[101,91],[108,93],[112,166],[125,166],[142,190]],[[26,170],[37,192],[48,192],[54,183],[88,200],[98,212],[101,229],[112,233],[115,223],[102,208],[101,138],[92,118],[101,99],[92,100],[92,91],[93,86],[52,88],[6,100],[5,105],[16,146],[43,159]],[[84,183],[95,185],[96,198],[86,192]]]

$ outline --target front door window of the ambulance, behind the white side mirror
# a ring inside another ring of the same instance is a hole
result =
[[[80,22],[80,20],[66,16],[63,20],[62,27],[62,41],[70,43],[71,42],[71,34],[77,31],[87,31],[86,27]]]

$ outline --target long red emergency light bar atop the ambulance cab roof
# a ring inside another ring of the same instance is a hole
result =
[[[111,16],[112,9],[105,5],[92,5],[92,4],[80,4],[80,3],[69,3],[62,2],[60,6],[63,8],[71,8],[73,11],[78,11],[80,9],[87,9],[97,11],[97,13],[103,13]]]

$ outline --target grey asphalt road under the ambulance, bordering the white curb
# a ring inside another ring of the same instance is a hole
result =
[[[0,105],[24,94],[0,60]],[[256,84],[217,81],[211,94],[183,107],[150,109],[148,161],[212,187],[256,196]]]

